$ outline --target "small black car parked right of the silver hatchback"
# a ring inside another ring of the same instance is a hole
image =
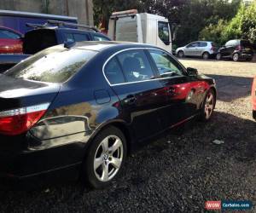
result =
[[[253,59],[253,45],[247,40],[230,40],[225,45],[218,49],[216,55],[217,60],[232,59],[238,60],[252,60]]]

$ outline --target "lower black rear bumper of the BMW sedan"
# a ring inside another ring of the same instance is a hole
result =
[[[0,188],[44,187],[78,180],[84,158],[84,144],[74,142],[39,151],[0,153]]]

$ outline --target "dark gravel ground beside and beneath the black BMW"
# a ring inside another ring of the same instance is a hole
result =
[[[78,183],[32,192],[0,192],[2,212],[205,212],[206,200],[256,205],[256,123],[250,87],[256,63],[182,60],[216,78],[218,103],[207,125],[186,124],[134,153],[105,190]],[[224,144],[213,144],[213,140]],[[256,207],[247,212],[256,212]]]

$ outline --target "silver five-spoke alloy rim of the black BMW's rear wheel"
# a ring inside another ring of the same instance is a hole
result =
[[[104,138],[96,149],[94,172],[99,181],[110,181],[119,171],[124,157],[124,147],[116,135]]]

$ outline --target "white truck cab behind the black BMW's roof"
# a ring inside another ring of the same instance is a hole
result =
[[[148,43],[172,54],[172,33],[169,21],[160,15],[137,9],[115,12],[108,24],[108,37],[113,41]]]

